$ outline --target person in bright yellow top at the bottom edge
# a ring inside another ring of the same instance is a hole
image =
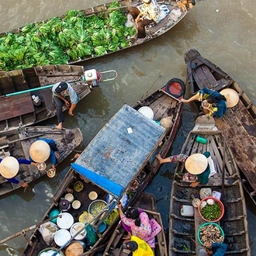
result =
[[[122,247],[131,251],[128,256],[154,256],[154,251],[149,244],[140,237],[131,236],[130,240],[123,243]]]

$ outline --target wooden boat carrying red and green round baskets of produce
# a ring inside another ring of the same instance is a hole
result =
[[[206,138],[207,144],[197,142],[198,135]],[[237,164],[227,145],[225,134],[216,129],[213,118],[200,116],[195,123],[194,130],[185,140],[181,153],[191,155],[202,154],[206,151],[210,152],[216,171],[216,174],[209,178],[207,185],[192,188],[190,183],[182,182],[185,164],[179,162],[175,168],[174,181],[171,186],[169,255],[195,255],[195,247],[199,245],[197,232],[205,221],[199,216],[197,208],[194,208],[194,216],[191,216],[190,213],[182,215],[181,207],[192,206],[191,195],[199,194],[202,188],[210,188],[212,192],[221,193],[220,200],[224,206],[223,218],[217,223],[223,229],[224,243],[228,246],[225,255],[249,256],[251,253],[247,230],[247,211]]]

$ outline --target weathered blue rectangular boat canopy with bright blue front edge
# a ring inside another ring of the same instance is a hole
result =
[[[124,105],[106,123],[72,168],[119,198],[154,156],[164,128]]]

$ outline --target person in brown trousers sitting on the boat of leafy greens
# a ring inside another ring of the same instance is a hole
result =
[[[143,43],[146,40],[145,26],[160,22],[161,19],[161,8],[155,0],[143,0],[143,2],[142,5],[129,8],[131,16],[137,23],[137,43]]]

